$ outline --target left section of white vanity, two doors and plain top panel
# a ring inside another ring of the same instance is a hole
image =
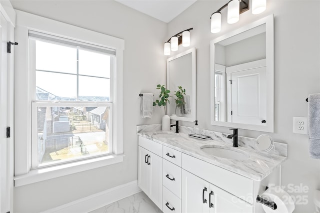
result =
[[[138,187],[162,210],[162,145],[139,137]]]

